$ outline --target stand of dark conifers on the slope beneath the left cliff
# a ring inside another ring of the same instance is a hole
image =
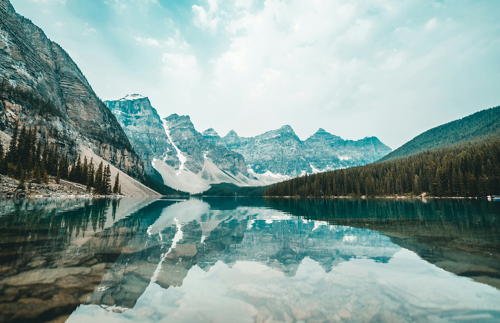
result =
[[[47,140],[48,141],[48,140]],[[17,188],[25,189],[25,182],[48,183],[48,176],[55,177],[55,182],[60,179],[81,183],[87,190],[99,195],[121,193],[118,175],[111,187],[111,172],[109,164],[103,166],[102,162],[96,169],[93,160],[86,157],[69,155],[63,152],[55,143],[41,142],[36,138],[34,128],[22,126],[19,131],[15,125],[12,139],[8,147],[0,143],[0,173],[19,179]],[[73,160],[69,164],[69,160]]]

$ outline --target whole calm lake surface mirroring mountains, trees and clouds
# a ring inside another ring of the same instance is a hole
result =
[[[0,321],[499,322],[500,202],[0,199]]]

